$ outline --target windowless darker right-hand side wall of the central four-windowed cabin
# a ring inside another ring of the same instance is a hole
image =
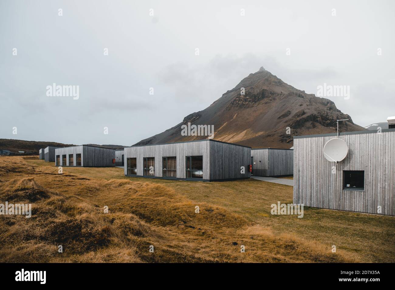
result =
[[[250,178],[251,148],[210,142],[210,180]],[[244,173],[241,167],[244,166]]]

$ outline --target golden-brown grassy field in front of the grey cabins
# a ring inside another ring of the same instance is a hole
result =
[[[303,218],[271,215],[271,204],[292,202],[287,185],[127,178],[117,167],[63,169],[57,174],[54,163],[0,157],[0,203],[32,203],[30,219],[0,216],[1,261],[395,260],[394,217],[307,207]]]

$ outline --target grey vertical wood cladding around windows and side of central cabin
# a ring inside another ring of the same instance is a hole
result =
[[[214,144],[215,143],[215,144]],[[240,167],[250,164],[249,147],[216,142],[214,140],[199,140],[195,142],[179,142],[169,144],[132,146],[124,148],[125,164],[127,158],[137,159],[137,176],[143,176],[143,158],[154,157],[155,177],[163,177],[162,157],[176,157],[176,177],[186,178],[185,157],[203,156],[203,180],[222,180],[229,178],[249,178],[250,174],[242,175]],[[228,167],[229,165],[229,167]],[[127,166],[124,168],[127,174]]]

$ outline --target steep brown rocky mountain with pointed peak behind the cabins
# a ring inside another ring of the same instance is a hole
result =
[[[245,95],[241,95],[245,88]],[[329,99],[306,94],[286,84],[263,67],[241,80],[206,109],[192,113],[166,131],[135,145],[205,139],[207,136],[182,136],[181,125],[214,125],[214,139],[253,148],[290,148],[294,135],[361,131],[351,117],[343,114]],[[290,134],[286,128],[290,127]]]

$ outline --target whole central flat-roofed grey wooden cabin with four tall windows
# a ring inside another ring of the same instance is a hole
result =
[[[251,147],[205,139],[124,148],[130,177],[190,181],[250,178]]]

